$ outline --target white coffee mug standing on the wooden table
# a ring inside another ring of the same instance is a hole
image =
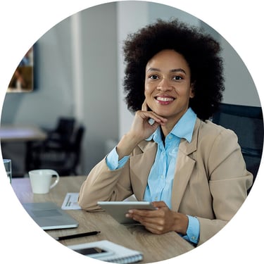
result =
[[[30,183],[33,194],[47,194],[49,190],[55,187],[60,180],[58,172],[55,170],[30,170],[28,174],[30,175]],[[53,184],[51,184],[51,178],[53,175],[56,176],[56,180]]]

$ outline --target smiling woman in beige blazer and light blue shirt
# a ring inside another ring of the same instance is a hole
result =
[[[80,206],[134,194],[158,210],[130,210],[154,234],[175,231],[192,244],[213,237],[246,199],[252,175],[237,136],[208,120],[222,99],[220,46],[177,20],[158,20],[125,42],[130,130],[89,173]]]

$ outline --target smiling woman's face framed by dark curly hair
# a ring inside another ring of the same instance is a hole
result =
[[[158,52],[146,64],[146,103],[154,113],[177,122],[194,97],[191,71],[185,58],[176,51]]]

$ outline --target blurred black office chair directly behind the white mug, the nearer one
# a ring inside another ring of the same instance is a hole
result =
[[[84,131],[80,125],[66,144],[43,144],[32,149],[30,170],[49,168],[60,176],[78,175]]]

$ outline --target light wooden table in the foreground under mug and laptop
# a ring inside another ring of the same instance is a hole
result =
[[[61,206],[65,195],[68,192],[78,192],[85,178],[85,176],[61,177],[58,185],[51,189],[49,194],[32,194],[30,180],[27,177],[13,179],[12,187],[22,203],[53,201]],[[66,246],[107,239],[130,249],[142,251],[144,253],[142,263],[166,260],[194,249],[175,232],[162,235],[151,234],[140,225],[121,225],[105,212],[88,213],[84,210],[67,210],[67,212],[79,222],[79,227],[68,230],[49,230],[47,233],[51,237],[94,230],[100,230],[101,234],[61,241]]]

